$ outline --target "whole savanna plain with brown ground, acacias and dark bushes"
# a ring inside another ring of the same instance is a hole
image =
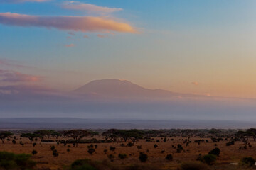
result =
[[[1,131],[0,168],[255,169],[255,133],[256,129]]]

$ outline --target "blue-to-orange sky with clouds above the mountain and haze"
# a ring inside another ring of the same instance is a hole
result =
[[[0,86],[95,79],[256,98],[255,0],[0,0]]]

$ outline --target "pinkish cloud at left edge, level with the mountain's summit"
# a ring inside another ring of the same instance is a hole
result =
[[[41,77],[38,77],[38,76],[0,69],[0,82],[8,82],[8,83],[36,82],[36,81],[40,81],[40,79]]]

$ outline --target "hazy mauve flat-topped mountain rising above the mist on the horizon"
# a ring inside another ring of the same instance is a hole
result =
[[[94,94],[95,96],[114,98],[171,98],[171,97],[207,97],[196,94],[180,94],[162,89],[146,89],[127,80],[102,79],[90,81],[73,91],[75,94]]]

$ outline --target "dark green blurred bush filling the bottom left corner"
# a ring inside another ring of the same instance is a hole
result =
[[[0,152],[0,169],[32,169],[36,165],[30,154]]]

